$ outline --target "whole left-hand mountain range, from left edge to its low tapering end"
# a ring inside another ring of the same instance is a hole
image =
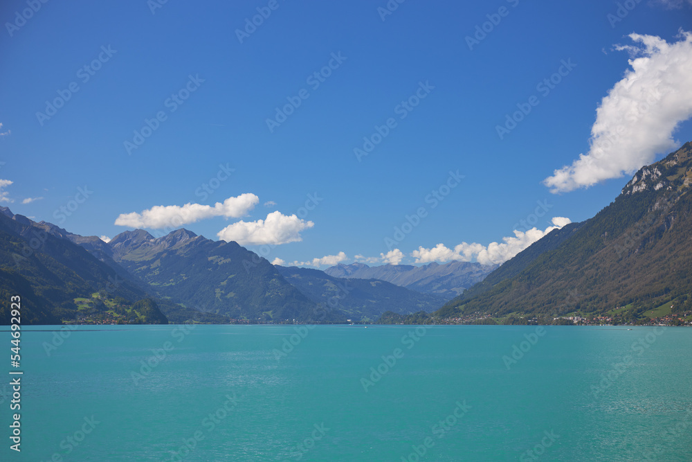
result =
[[[161,238],[137,229],[104,242],[0,211],[0,292],[22,294],[28,323],[370,321],[386,310],[430,312],[448,300],[274,266],[236,242],[186,229]]]

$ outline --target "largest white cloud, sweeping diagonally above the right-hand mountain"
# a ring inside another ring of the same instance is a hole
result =
[[[630,66],[601,100],[591,128],[589,152],[543,182],[552,193],[588,188],[599,181],[632,174],[675,150],[673,132],[692,116],[692,33],[668,43],[632,33]]]

